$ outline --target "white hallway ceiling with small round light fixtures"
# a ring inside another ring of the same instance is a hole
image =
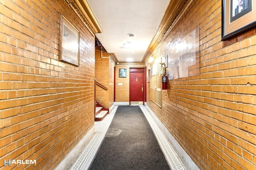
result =
[[[164,16],[169,0],[87,0],[103,33],[96,37],[119,62],[141,62]],[[130,37],[133,34],[134,37]],[[124,43],[134,44],[127,49]]]

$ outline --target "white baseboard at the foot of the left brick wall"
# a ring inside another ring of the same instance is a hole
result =
[[[72,162],[76,159],[81,150],[86,146],[88,141],[95,133],[95,127],[93,126],[84,137],[78,142],[78,144],[68,152],[68,154],[62,159],[62,161],[56,166],[55,170],[66,170],[70,167]]]

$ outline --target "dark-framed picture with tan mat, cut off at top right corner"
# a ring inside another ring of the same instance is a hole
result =
[[[252,0],[222,0],[222,41],[256,27],[256,3]]]

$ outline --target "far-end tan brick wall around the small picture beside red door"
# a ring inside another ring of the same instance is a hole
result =
[[[116,102],[130,102],[130,68],[141,68],[144,64],[120,64],[116,65]],[[126,68],[126,78],[119,77],[119,69]],[[146,76],[145,76],[146,77]],[[118,83],[122,85],[118,85]]]

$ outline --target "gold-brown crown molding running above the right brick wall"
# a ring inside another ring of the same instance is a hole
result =
[[[189,3],[187,3],[190,1]],[[193,0],[170,0],[164,16],[154,34],[150,45],[142,59],[143,63],[146,63],[154,49],[162,42],[166,35],[170,32],[170,28],[173,27],[174,23],[180,18],[181,14],[184,13],[184,9],[187,8]]]

